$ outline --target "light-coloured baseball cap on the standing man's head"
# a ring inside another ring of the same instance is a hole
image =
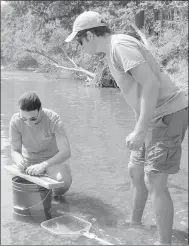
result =
[[[75,19],[72,33],[67,37],[65,42],[72,41],[79,31],[98,26],[107,26],[102,15],[94,11],[85,11]]]

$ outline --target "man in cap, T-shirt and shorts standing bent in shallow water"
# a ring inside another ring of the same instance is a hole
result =
[[[141,224],[149,192],[159,232],[155,244],[171,244],[174,212],[167,179],[179,171],[181,143],[188,123],[187,98],[160,71],[140,41],[129,35],[111,34],[99,13],[80,14],[65,41],[72,40],[88,53],[106,54],[110,72],[136,116],[134,130],[126,137],[133,186],[130,223]]]

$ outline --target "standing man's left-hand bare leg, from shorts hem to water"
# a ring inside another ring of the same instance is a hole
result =
[[[130,222],[132,224],[141,224],[144,207],[148,198],[148,190],[144,183],[144,166],[129,162],[128,170],[133,191],[133,210]]]

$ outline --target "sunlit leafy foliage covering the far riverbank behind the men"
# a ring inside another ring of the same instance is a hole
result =
[[[140,37],[130,23],[134,23],[136,15],[144,11],[142,32],[148,38],[151,51],[164,70],[172,75],[181,71],[180,64],[187,63],[187,1],[7,2],[1,11],[3,64],[19,68],[35,64],[40,71],[53,73],[59,69],[50,65],[49,60],[38,54],[28,54],[25,49],[43,50],[60,64],[71,66],[65,57],[65,50],[76,64],[97,74],[95,85],[116,86],[103,55],[90,56],[81,52],[76,44],[64,42],[71,32],[73,21],[85,10],[100,12],[107,19],[113,33],[126,33],[138,39]],[[78,75],[75,73],[76,77]]]

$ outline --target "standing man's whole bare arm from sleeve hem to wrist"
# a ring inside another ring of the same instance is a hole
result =
[[[132,68],[130,72],[143,87],[140,116],[134,131],[146,133],[156,109],[160,83],[147,63]]]

